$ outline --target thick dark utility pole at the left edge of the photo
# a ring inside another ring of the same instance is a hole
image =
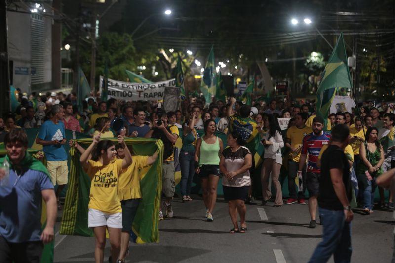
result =
[[[10,111],[7,0],[0,0],[0,116]]]

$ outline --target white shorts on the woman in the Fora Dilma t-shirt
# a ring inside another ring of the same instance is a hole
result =
[[[122,213],[107,214],[102,211],[89,208],[88,227],[105,226],[122,228]]]

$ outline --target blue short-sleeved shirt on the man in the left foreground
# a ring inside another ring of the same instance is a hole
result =
[[[40,241],[41,191],[53,189],[49,177],[25,170],[18,178],[9,170],[8,187],[0,187],[0,235],[11,243]]]

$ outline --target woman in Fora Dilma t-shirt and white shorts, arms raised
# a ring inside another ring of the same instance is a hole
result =
[[[119,256],[122,229],[118,175],[132,163],[132,157],[123,136],[118,136],[118,143],[125,149],[125,157],[120,160],[115,158],[117,151],[114,143],[99,139],[100,134],[93,137],[93,142],[82,153],[79,161],[84,172],[91,178],[88,227],[92,227],[96,239],[95,262],[103,263],[107,228],[110,235],[111,258],[115,263]]]

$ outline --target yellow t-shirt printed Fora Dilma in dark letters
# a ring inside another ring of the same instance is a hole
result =
[[[107,214],[122,212],[118,197],[118,175],[122,172],[122,161],[116,159],[103,166],[100,161],[88,160],[87,174],[91,178],[89,208]]]

